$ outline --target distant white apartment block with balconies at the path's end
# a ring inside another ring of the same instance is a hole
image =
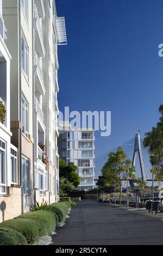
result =
[[[68,126],[67,126],[68,128]],[[80,176],[77,190],[89,191],[95,187],[95,136],[92,129],[59,128],[59,155],[66,164],[73,162]],[[65,131],[66,130],[66,131]]]

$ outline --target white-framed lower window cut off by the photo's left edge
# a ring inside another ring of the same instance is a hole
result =
[[[6,143],[0,139],[0,192],[6,192]]]

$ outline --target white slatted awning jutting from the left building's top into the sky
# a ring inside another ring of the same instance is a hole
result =
[[[58,45],[67,45],[65,17],[56,17]]]

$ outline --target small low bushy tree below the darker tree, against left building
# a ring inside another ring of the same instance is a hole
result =
[[[68,181],[66,178],[63,178],[63,177],[59,179],[60,197],[67,196],[67,193],[73,190],[74,190],[74,185],[70,181]]]

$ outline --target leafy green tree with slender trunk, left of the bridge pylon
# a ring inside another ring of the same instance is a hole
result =
[[[135,179],[135,167],[131,166],[131,160],[127,159],[121,147],[118,147],[116,153],[111,152],[109,154],[109,159],[105,163],[102,173],[105,180],[105,185],[114,183],[120,188],[120,204],[122,198],[122,182],[128,178]]]

